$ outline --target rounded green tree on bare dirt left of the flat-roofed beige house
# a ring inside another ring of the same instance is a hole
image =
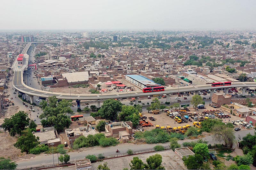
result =
[[[20,136],[13,146],[20,149],[21,152],[26,152],[28,154],[30,149],[35,148],[40,143],[38,141],[38,136],[36,137],[31,132],[28,132],[25,136]]]

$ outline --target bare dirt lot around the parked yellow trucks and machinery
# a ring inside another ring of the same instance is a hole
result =
[[[197,111],[195,111],[195,109],[193,108],[189,108],[190,112],[197,112],[199,114],[201,114],[202,112],[204,112],[204,110],[214,110],[214,108],[212,108],[211,106],[206,106],[206,109],[199,109]],[[220,110],[220,109],[219,109]],[[188,122],[188,123],[177,123],[175,122],[174,119],[170,118],[169,116],[166,115],[166,113],[162,110],[160,110],[159,114],[152,114],[152,113],[148,113],[148,112],[142,112],[143,115],[147,116],[147,117],[155,117],[156,121],[151,121],[147,118],[148,121],[150,121],[154,127],[145,127],[144,129],[154,129],[156,125],[160,125],[160,126],[171,126],[171,127],[177,127],[177,126],[185,126],[185,125],[193,125],[194,120],[192,120],[192,122]],[[219,119],[219,118],[215,118],[215,119]],[[245,118],[242,118],[245,120]],[[223,121],[227,121],[228,119],[222,119]],[[233,116],[231,115],[230,118],[230,122],[232,120],[241,120],[241,118],[237,117],[237,116]],[[175,123],[174,123],[175,122]]]

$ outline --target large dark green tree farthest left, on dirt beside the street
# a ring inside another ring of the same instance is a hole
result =
[[[27,113],[19,111],[10,118],[5,118],[2,127],[5,131],[8,131],[12,137],[16,134],[21,135],[21,131],[29,125],[29,120]]]

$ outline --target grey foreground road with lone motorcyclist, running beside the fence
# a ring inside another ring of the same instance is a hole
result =
[[[246,132],[246,133],[245,133]],[[247,135],[248,133],[252,134],[254,133],[254,130],[241,130],[238,132],[235,132],[236,135],[236,140],[239,139],[239,137],[243,138],[245,135]],[[209,141],[208,144],[214,144],[214,143],[219,143],[217,141],[214,141],[211,136],[206,136],[204,138],[202,138],[203,140]],[[198,140],[198,139],[195,139]],[[194,141],[195,141],[194,140]],[[183,140],[183,141],[178,141],[178,143],[182,144],[183,142],[190,142],[193,140]],[[134,145],[134,144],[130,144],[130,143],[124,143],[124,144],[119,144],[117,146],[112,146],[112,147],[106,147],[106,148],[102,148],[102,147],[92,147],[92,148],[86,148],[86,151],[74,151],[74,152],[69,152],[68,154],[70,155],[70,161],[73,161],[74,159],[83,159],[86,155],[98,155],[100,153],[104,154],[104,155],[114,155],[116,149],[118,149],[120,151],[120,153],[126,153],[126,151],[128,149],[132,149],[133,151],[139,151],[139,150],[143,150],[143,149],[152,149],[154,148],[154,146],[159,145],[158,144],[141,144],[141,145]],[[163,146],[168,146],[169,143],[162,143],[161,145]],[[58,162],[58,156],[57,154],[54,154],[54,162]],[[39,165],[46,165],[46,164],[52,164],[53,163],[53,158],[51,154],[43,154],[43,155],[39,155],[36,156],[35,158],[31,158],[31,159],[23,159],[23,160],[16,160],[16,163],[18,164],[18,169],[19,168],[25,168],[25,167],[29,167],[29,166],[39,166]]]

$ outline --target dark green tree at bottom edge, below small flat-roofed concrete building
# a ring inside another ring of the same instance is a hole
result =
[[[188,169],[200,169],[204,163],[204,158],[200,154],[189,155],[187,157],[183,157],[184,165],[187,166]]]

